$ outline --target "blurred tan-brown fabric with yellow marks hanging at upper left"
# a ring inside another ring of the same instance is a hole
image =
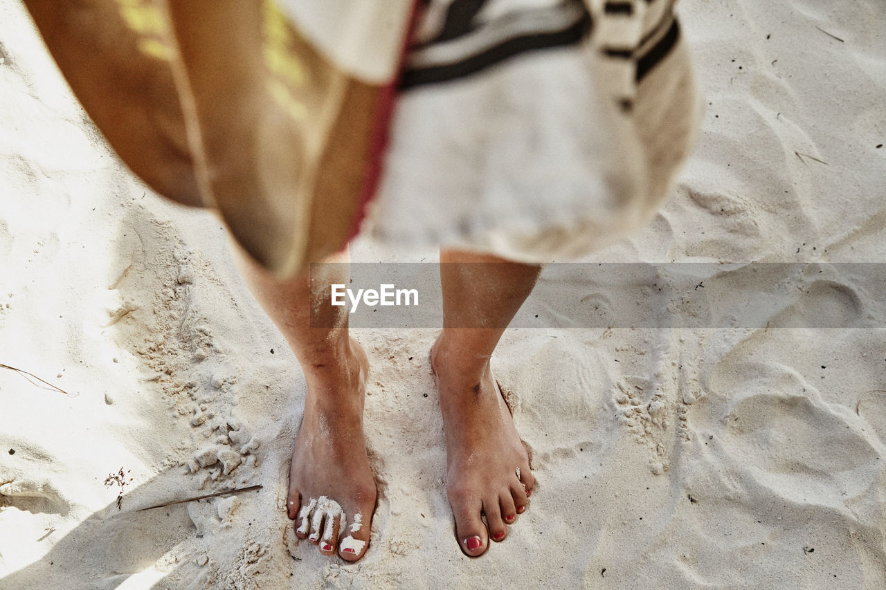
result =
[[[326,0],[335,11],[314,14],[270,0],[25,4],[87,113],[159,194],[218,208],[282,276],[353,236],[411,0]]]

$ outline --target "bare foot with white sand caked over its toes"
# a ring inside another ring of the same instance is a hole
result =
[[[307,373],[305,414],[289,470],[287,515],[295,534],[355,562],[366,553],[376,485],[363,439],[369,361],[350,340],[340,370]],[[345,367],[346,366],[346,367]],[[340,540],[339,540],[340,538]]]

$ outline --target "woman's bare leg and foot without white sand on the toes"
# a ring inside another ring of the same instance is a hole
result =
[[[538,265],[440,252],[444,327],[431,366],[446,432],[447,493],[466,555],[481,555],[490,538],[504,540],[534,485],[489,359],[539,273]]]

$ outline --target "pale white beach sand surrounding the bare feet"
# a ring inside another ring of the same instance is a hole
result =
[[[702,142],[664,211],[595,258],[882,261],[882,1],[680,9]],[[348,566],[299,544],[284,498],[305,385],[223,230],[120,167],[15,0],[0,58],[0,363],[68,392],[0,370],[0,587],[886,586],[875,329],[510,331],[494,369],[540,484],[480,559],[443,485],[434,330],[360,330],[371,546]],[[882,291],[832,279],[810,285],[822,305],[886,326]]]

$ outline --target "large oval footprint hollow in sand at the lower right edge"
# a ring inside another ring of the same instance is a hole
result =
[[[706,451],[720,455],[723,469],[750,477],[755,495],[841,512],[874,501],[879,441],[856,416],[776,363],[737,363],[713,381],[721,391],[693,405],[689,428],[696,439],[713,433]]]

